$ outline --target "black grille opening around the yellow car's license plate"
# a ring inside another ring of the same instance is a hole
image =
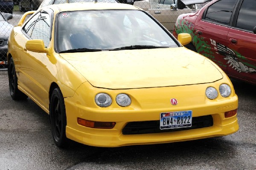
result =
[[[192,118],[192,127],[183,127],[177,129],[160,130],[160,121],[134,121],[129,122],[122,130],[123,135],[136,135],[147,133],[163,133],[181,130],[199,129],[211,127],[213,125],[212,115],[199,116]]]

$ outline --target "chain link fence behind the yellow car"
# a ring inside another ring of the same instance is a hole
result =
[[[43,6],[58,3],[88,2],[94,0],[0,0],[0,71],[7,70],[7,41],[13,26],[16,26],[26,11],[37,10]],[[117,0],[97,0],[98,2],[119,3]],[[185,9],[175,9],[174,0],[119,0],[145,10],[154,16],[170,32],[175,26],[177,17],[189,13],[198,6],[186,6]],[[9,14],[6,14],[9,13]],[[12,15],[11,15],[12,14]]]

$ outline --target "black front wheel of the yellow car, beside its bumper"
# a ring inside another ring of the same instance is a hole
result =
[[[53,140],[58,147],[67,147],[66,137],[67,117],[64,98],[59,88],[52,91],[50,99],[50,122]]]

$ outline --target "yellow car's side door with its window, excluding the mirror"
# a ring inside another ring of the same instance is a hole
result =
[[[36,22],[32,22],[34,26],[28,26],[27,30],[25,28],[24,33],[27,33],[27,36],[32,39],[44,40],[46,46],[48,46],[50,43],[49,14],[37,14],[35,15],[35,20]],[[51,75],[49,67],[47,67],[51,64],[46,53],[31,52],[29,50],[24,51],[24,56],[21,60],[24,74],[23,84],[26,86],[27,92],[45,108],[49,107],[49,86],[55,77],[55,75]]]

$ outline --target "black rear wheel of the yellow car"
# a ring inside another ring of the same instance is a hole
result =
[[[15,70],[13,59],[10,58],[8,64],[8,78],[9,78],[9,90],[13,100],[25,100],[28,98],[23,92],[18,89],[18,79]]]

